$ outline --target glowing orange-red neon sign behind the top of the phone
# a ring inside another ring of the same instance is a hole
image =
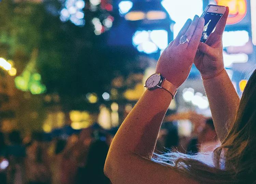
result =
[[[227,24],[236,24],[240,22],[246,15],[246,0],[215,0],[217,5],[229,7],[229,17]]]

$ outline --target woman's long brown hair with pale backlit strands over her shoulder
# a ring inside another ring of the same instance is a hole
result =
[[[256,70],[220,147],[212,153],[192,156],[179,152],[154,154],[152,160],[200,183],[256,183]]]

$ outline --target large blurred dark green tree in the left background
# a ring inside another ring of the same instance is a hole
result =
[[[85,2],[89,3],[88,0]],[[78,27],[70,21],[60,21],[61,3],[58,0],[3,0],[0,3],[0,57],[12,59],[17,75],[21,75],[31,60],[32,51],[37,49],[34,71],[41,74],[46,93],[59,94],[59,105],[65,111],[97,111],[103,99],[89,104],[86,94],[96,93],[101,97],[103,92],[110,92],[112,79],[118,75],[128,76],[131,66],[134,71],[141,72],[134,58],[137,52],[108,47],[105,42],[107,33],[95,35],[91,20],[102,17],[105,11],[91,11],[85,7],[85,26]],[[41,127],[45,113],[43,95],[24,98],[22,93],[20,98],[20,104],[26,106],[24,116],[21,109],[17,112],[17,116],[23,116],[17,117],[20,123],[37,121]],[[29,114],[38,118],[31,119]]]

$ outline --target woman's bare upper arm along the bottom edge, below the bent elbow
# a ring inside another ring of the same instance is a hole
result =
[[[115,168],[108,177],[113,184],[199,184],[168,166],[139,155],[127,156],[126,161],[120,163],[119,168]]]

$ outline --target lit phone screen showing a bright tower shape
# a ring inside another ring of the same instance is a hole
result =
[[[215,28],[216,24],[218,23],[219,19],[221,19],[223,14],[221,13],[212,13],[207,12],[204,15],[204,28],[203,28],[203,34],[201,37],[201,42],[205,43],[205,41],[208,39],[209,35],[212,33],[213,29]]]

